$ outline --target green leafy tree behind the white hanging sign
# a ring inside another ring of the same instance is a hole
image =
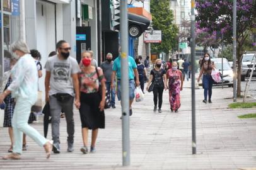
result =
[[[173,24],[173,13],[170,10],[170,0],[151,0],[150,10],[154,30],[162,31],[162,42],[151,45],[152,52],[169,54],[172,48],[177,47],[178,28]]]

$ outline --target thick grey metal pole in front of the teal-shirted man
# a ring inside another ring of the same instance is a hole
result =
[[[130,165],[129,132],[129,81],[128,81],[128,16],[127,1],[120,1],[120,40],[121,40],[121,90],[122,90],[122,164]]]

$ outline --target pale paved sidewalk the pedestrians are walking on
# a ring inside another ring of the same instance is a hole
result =
[[[95,154],[83,155],[81,122],[75,111],[74,152],[67,153],[66,121],[61,119],[61,154],[45,159],[44,149],[28,138],[28,150],[18,161],[0,160],[0,169],[256,169],[256,119],[238,115],[254,109],[232,110],[232,88],[214,88],[212,104],[202,103],[203,90],[196,90],[197,154],[191,146],[190,82],[182,91],[182,107],[171,113],[168,91],[163,96],[163,113],[153,112],[153,94],[135,103],[131,116],[131,166],[122,167],[120,104],[105,111],[106,128],[100,130]],[[33,127],[43,133],[43,124]],[[50,133],[49,133],[50,134]],[[0,128],[0,157],[9,148],[8,129]]]

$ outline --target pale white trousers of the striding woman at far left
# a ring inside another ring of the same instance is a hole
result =
[[[45,137],[40,135],[35,128],[28,125],[28,117],[30,116],[31,107],[32,104],[26,99],[18,98],[16,101],[15,113],[13,114],[11,123],[14,136],[13,153],[22,153],[23,133],[31,137],[41,147],[47,142]]]

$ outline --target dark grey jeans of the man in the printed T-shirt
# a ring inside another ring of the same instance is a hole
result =
[[[55,96],[50,96],[50,114],[52,115],[52,140],[59,145],[59,123],[61,122],[61,110],[64,111],[67,122],[67,142],[74,142],[74,118],[73,118],[74,97],[69,101],[59,102]]]

